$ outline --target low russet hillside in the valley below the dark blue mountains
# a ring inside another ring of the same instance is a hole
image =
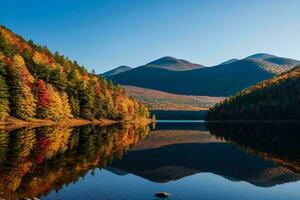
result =
[[[177,95],[157,90],[122,86],[128,95],[133,96],[150,110],[208,110],[223,97]]]

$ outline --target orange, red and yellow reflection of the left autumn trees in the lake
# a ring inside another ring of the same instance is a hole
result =
[[[0,131],[0,197],[46,195],[102,168],[149,133],[146,125]]]

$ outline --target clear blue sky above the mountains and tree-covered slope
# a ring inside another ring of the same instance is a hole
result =
[[[3,0],[0,24],[101,73],[162,56],[300,60],[299,0]]]

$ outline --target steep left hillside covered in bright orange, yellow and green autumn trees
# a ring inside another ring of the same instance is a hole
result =
[[[128,98],[124,89],[0,27],[0,121],[147,116],[144,105]]]

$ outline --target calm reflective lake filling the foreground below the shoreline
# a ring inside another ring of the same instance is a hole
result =
[[[300,199],[300,125],[0,129],[0,199]]]

